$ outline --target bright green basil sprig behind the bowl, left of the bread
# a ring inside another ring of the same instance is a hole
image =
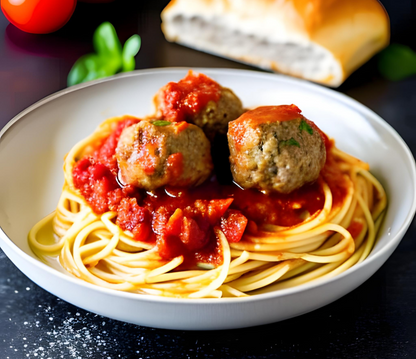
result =
[[[134,70],[134,57],[141,46],[139,35],[131,36],[123,47],[114,26],[103,22],[94,32],[93,44],[95,53],[81,56],[72,66],[68,86]]]

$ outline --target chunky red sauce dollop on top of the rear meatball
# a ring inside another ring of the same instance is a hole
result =
[[[179,82],[169,82],[156,96],[163,118],[172,121],[186,121],[199,113],[209,101],[218,102],[221,86],[204,74],[188,75]]]

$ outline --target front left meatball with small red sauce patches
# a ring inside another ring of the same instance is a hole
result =
[[[121,133],[116,158],[123,184],[146,190],[196,186],[210,175],[210,142],[186,122],[141,121]]]

